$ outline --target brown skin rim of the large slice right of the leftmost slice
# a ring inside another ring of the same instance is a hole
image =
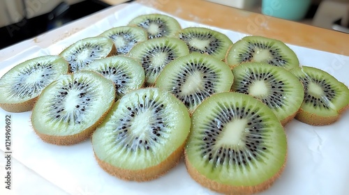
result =
[[[113,104],[114,104],[114,102],[113,102]],[[94,125],[91,125],[86,130],[83,130],[82,132],[80,132],[78,134],[72,134],[72,135],[66,135],[66,136],[54,136],[54,135],[48,135],[48,134],[41,134],[40,132],[38,132],[35,129],[35,127],[33,125],[32,125],[32,127],[34,129],[34,132],[36,132],[36,134],[38,135],[38,137],[40,137],[40,139],[42,139],[46,143],[52,143],[52,144],[58,145],[58,146],[69,146],[69,145],[73,145],[75,143],[80,143],[82,141],[89,139],[89,137],[91,137],[91,135],[94,133],[96,128],[99,125],[101,125],[101,123],[103,123],[103,120],[104,120],[105,116],[107,116],[110,109],[112,109],[112,106],[107,111],[105,111],[105,113],[101,116],[101,118],[99,118],[96,121],[96,123],[94,123]],[[33,118],[31,118],[31,120],[33,120]],[[33,124],[33,122],[31,122],[31,124]]]

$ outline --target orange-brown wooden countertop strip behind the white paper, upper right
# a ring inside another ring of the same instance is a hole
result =
[[[117,3],[120,0],[108,0]],[[349,35],[203,0],[138,0],[184,20],[349,56]]]

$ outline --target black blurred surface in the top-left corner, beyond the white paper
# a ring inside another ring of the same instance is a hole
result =
[[[68,22],[72,22],[81,17],[91,15],[99,10],[103,10],[110,5],[102,1],[81,1],[73,5],[68,5],[64,1],[59,3],[50,13],[45,13],[30,19],[24,18],[22,21],[0,28],[0,49],[8,47],[22,40],[27,40],[38,36],[41,33],[50,31]]]

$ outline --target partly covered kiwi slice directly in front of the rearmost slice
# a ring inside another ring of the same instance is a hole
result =
[[[152,86],[165,65],[180,56],[189,54],[186,43],[177,38],[156,38],[140,42],[129,56],[142,64],[146,86]]]

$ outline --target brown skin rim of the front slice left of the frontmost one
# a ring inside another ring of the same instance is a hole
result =
[[[94,156],[98,162],[98,165],[101,166],[101,168],[111,176],[115,176],[117,178],[120,178],[121,180],[126,181],[146,182],[160,178],[161,176],[165,175],[165,173],[168,173],[168,171],[174,168],[174,166],[177,166],[179,160],[183,156],[185,145],[186,141],[184,141],[184,143],[179,146],[177,150],[174,150],[174,152],[160,164],[140,170],[120,169],[99,159],[96,153],[94,153]]]

